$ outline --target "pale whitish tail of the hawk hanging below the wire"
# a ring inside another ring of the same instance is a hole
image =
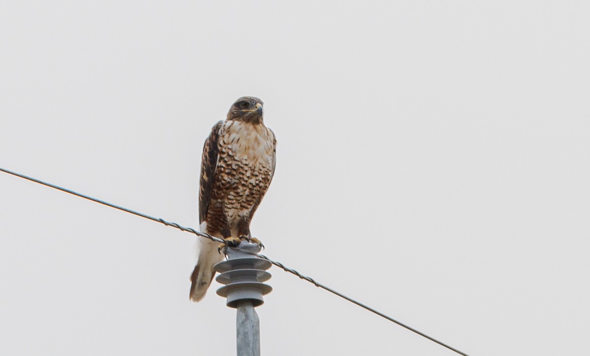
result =
[[[215,275],[213,267],[223,259],[223,254],[217,250],[219,243],[204,239],[201,239],[200,242],[199,260],[191,275],[191,301],[193,302],[203,299]]]

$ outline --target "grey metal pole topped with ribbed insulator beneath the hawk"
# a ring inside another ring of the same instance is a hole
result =
[[[257,244],[247,241],[242,241],[238,249],[260,252]],[[270,279],[266,270],[272,264],[231,247],[226,254],[228,259],[215,265],[215,270],[221,273],[216,280],[225,285],[217,294],[227,298],[227,306],[237,309],[237,355],[260,356],[260,319],[254,308],[262,305],[263,295],[273,290],[262,283]]]

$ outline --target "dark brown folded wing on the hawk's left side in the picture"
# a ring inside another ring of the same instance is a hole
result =
[[[211,134],[205,141],[203,147],[203,156],[201,159],[201,190],[199,190],[199,224],[207,218],[207,210],[211,202],[211,192],[213,191],[213,179],[215,178],[215,168],[217,168],[217,156],[219,154],[219,129],[223,125],[219,121],[211,129]]]

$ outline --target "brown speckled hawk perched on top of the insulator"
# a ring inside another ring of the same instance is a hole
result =
[[[230,246],[253,240],[250,221],[273,179],[277,140],[264,126],[263,102],[244,96],[231,106],[205,141],[201,161],[199,228]],[[205,296],[221,262],[219,243],[199,239],[199,260],[191,275],[191,301]]]

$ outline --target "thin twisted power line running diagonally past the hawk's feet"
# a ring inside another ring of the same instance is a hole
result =
[[[94,201],[96,203],[107,205],[107,207],[112,207],[112,208],[115,208],[115,209],[126,211],[127,213],[134,214],[134,215],[137,215],[137,216],[140,216],[140,217],[149,219],[149,220],[153,220],[153,221],[156,221],[158,223],[162,223],[162,224],[164,224],[166,226],[172,226],[172,227],[178,228],[181,231],[188,231],[189,233],[193,233],[196,236],[205,237],[205,239],[216,241],[218,243],[222,243],[222,244],[225,244],[227,246],[227,242],[225,240],[218,239],[215,236],[211,236],[211,235],[209,235],[207,233],[202,233],[201,231],[196,231],[194,228],[191,228],[191,227],[183,227],[183,226],[181,226],[179,224],[171,223],[171,222],[166,221],[166,220],[164,220],[162,218],[156,218],[156,217],[153,217],[153,216],[150,216],[150,215],[147,215],[147,214],[139,213],[138,211],[127,209],[127,208],[121,207],[119,205],[115,205],[115,204],[109,203],[109,202],[104,201],[104,200],[93,198],[93,197],[90,197],[89,195],[86,195],[86,194],[81,194],[81,193],[75,192],[73,190],[69,190],[67,188],[60,187],[60,186],[55,185],[55,184],[51,184],[51,183],[48,183],[48,182],[41,181],[40,179],[28,177],[27,175],[24,175],[24,174],[19,174],[17,172],[9,171],[8,169],[4,169],[2,167],[0,167],[0,171],[5,172],[5,173],[8,173],[8,174],[15,175],[16,177],[27,179],[29,181],[32,181],[32,182],[35,182],[35,183],[38,183],[38,184],[45,185],[46,187],[54,188],[54,189],[57,189],[57,190],[60,190],[60,191],[63,191],[63,192],[67,192],[67,193],[76,195],[77,197],[80,197],[80,198],[88,199],[88,200]],[[314,279],[312,279],[312,277],[307,277],[307,276],[301,275],[301,273],[297,272],[294,269],[290,269],[289,267],[286,267],[283,263],[280,263],[280,262],[276,262],[274,260],[271,260],[267,256],[264,256],[263,254],[260,254],[260,253],[255,253],[255,252],[251,252],[251,251],[244,250],[244,249],[238,249],[238,250],[240,250],[241,252],[245,252],[245,253],[249,253],[249,254],[254,254],[255,256],[260,257],[261,259],[265,259],[268,262],[274,264],[275,266],[280,267],[281,269],[285,270],[286,272],[292,273],[293,275],[296,275],[297,277],[299,277],[299,278],[301,278],[303,280],[307,280],[307,282],[313,283],[313,285],[315,285],[316,287],[319,287],[319,288],[322,288],[324,290],[327,290],[328,292],[333,293],[333,294],[339,296],[340,298],[343,298],[343,299],[346,299],[349,302],[355,303],[356,305],[358,305],[358,306],[360,306],[362,308],[365,308],[366,310],[368,310],[370,312],[373,312],[376,315],[382,316],[382,318],[385,318],[385,319],[387,319],[387,320],[389,320],[391,322],[394,322],[395,324],[398,324],[399,326],[402,326],[402,327],[408,329],[409,331],[415,332],[416,334],[418,334],[418,335],[420,335],[422,337],[425,337],[425,338],[429,339],[430,341],[434,341],[437,344],[448,348],[449,350],[455,351],[455,352],[457,352],[457,354],[460,354],[460,355],[463,355],[463,356],[469,356],[466,353],[461,352],[461,351],[457,350],[456,348],[451,347],[451,346],[445,344],[444,342],[438,341],[437,339],[432,338],[432,337],[424,334],[423,332],[418,331],[417,329],[412,328],[411,326],[408,326],[408,325],[406,325],[406,324],[404,324],[402,322],[397,321],[394,318],[391,318],[391,316],[387,316],[387,315],[383,314],[382,312],[376,311],[375,309],[371,308],[370,306],[367,306],[367,305],[365,305],[365,304],[363,304],[361,302],[355,301],[355,299],[352,299],[352,298],[350,298],[350,297],[348,297],[346,295],[343,295],[340,292],[337,292],[336,290],[334,290],[332,288],[329,288],[327,286],[322,285],[321,283],[316,282]]]

